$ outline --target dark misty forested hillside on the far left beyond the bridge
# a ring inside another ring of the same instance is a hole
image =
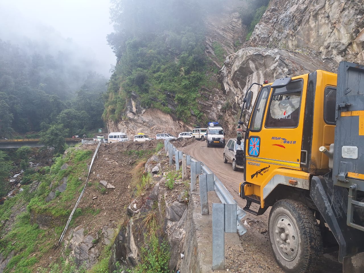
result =
[[[107,79],[88,71],[87,62],[75,65],[72,54],[52,55],[44,44],[31,40],[21,46],[0,40],[1,138],[38,132],[56,123],[68,129],[68,136],[102,127]],[[76,124],[66,124],[70,120]]]

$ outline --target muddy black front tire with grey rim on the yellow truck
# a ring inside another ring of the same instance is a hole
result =
[[[323,242],[320,227],[306,205],[278,200],[270,210],[268,230],[274,257],[285,272],[314,272]]]

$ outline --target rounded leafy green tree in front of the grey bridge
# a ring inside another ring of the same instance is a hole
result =
[[[65,138],[69,130],[64,129],[62,124],[51,125],[47,130],[39,132],[40,143],[46,147],[54,147],[56,153],[63,153],[64,146],[66,145]]]

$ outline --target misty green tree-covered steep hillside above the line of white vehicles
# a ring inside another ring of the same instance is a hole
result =
[[[210,81],[202,7],[209,1],[146,1],[138,8],[123,0],[112,3],[115,32],[108,42],[119,62],[108,83],[103,119],[122,119],[133,98],[185,122],[192,115],[201,121],[198,90]]]

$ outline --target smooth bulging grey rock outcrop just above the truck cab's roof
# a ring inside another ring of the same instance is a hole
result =
[[[313,57],[298,52],[255,47],[243,48],[230,55],[219,71],[221,87],[231,98],[229,103],[232,109],[235,109],[226,113],[226,117],[230,116],[231,120],[234,120],[234,113],[240,113],[242,99],[252,83],[306,74],[317,69],[332,71],[332,67],[338,65],[334,60],[328,59],[324,62]],[[255,85],[251,90],[254,93],[254,102],[259,86]],[[230,123],[231,130],[235,126],[234,123]]]

